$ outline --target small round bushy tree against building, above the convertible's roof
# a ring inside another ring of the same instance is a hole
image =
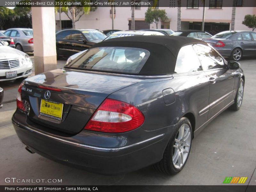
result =
[[[166,21],[168,17],[166,16],[165,10],[161,9],[153,9],[148,8],[147,12],[145,12],[145,21],[147,23],[156,23],[156,28],[158,28],[158,22],[161,21]]]

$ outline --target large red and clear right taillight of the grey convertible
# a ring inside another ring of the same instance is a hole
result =
[[[143,122],[144,116],[136,107],[122,101],[105,99],[84,129],[120,133],[136,129]]]

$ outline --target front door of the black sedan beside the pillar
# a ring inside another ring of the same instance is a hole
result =
[[[86,44],[86,39],[80,31],[71,31],[69,48],[74,51],[74,54],[89,49],[90,47],[91,46]]]

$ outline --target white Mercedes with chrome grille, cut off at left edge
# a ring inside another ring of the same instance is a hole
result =
[[[8,81],[31,74],[33,64],[29,56],[0,42],[0,81]]]

